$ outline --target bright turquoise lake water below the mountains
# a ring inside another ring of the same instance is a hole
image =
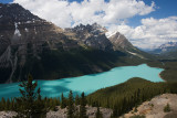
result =
[[[142,64],[138,66],[115,67],[108,72],[80,77],[38,81],[38,85],[41,87],[41,95],[44,97],[59,97],[61,93],[67,96],[70,90],[79,95],[84,92],[87,95],[97,89],[124,83],[132,77],[142,77],[150,82],[163,82],[158,76],[162,71],[162,68],[149,67],[146,64]],[[17,96],[19,96],[19,83],[0,84],[0,98]]]

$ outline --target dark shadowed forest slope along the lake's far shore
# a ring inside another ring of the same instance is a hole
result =
[[[115,66],[145,63],[139,57],[132,57],[119,51],[105,52],[94,49],[44,50],[39,57],[32,53],[28,54],[24,67],[18,66],[13,82],[19,79],[19,75],[23,79],[28,73],[31,73],[35,79],[59,79],[104,72]]]

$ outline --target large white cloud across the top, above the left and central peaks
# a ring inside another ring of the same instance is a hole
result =
[[[67,0],[14,0],[32,13],[69,28],[79,23],[97,22],[104,26],[115,25],[134,15],[145,15],[155,10],[155,3],[145,4],[142,0],[84,0],[69,2]]]

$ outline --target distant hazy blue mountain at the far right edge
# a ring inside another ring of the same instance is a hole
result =
[[[168,42],[165,44],[162,44],[160,46],[156,47],[153,51],[149,51],[152,54],[165,54],[169,52],[177,51],[177,42]]]

